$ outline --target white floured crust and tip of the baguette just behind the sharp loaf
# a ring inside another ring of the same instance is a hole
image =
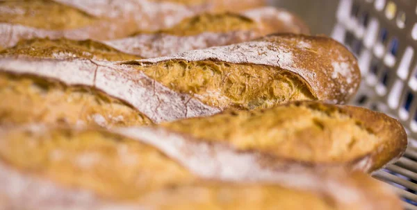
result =
[[[185,36],[171,35],[169,33],[141,33],[116,40],[97,40],[99,36],[92,37],[87,31],[83,33],[81,29],[72,33],[66,30],[44,30],[13,24],[0,24],[0,33],[5,37],[8,36],[7,39],[0,40],[0,46],[15,46],[22,39],[28,40],[43,37],[49,37],[51,40],[56,40],[60,37],[72,40],[94,38],[95,40],[92,42],[106,44],[122,53],[138,55],[141,58],[156,58],[194,49],[246,42],[268,33],[308,33],[308,28],[306,28],[304,23],[285,10],[263,7],[245,10],[240,12],[240,15],[254,21],[254,27],[249,30],[233,30],[222,33],[207,31],[197,35]],[[65,53],[61,54],[65,56]],[[63,55],[60,55],[59,58],[63,58]],[[67,55],[67,57],[72,56]]]

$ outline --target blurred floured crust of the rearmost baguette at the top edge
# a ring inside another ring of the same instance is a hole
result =
[[[256,6],[265,6],[261,0],[204,0],[199,3],[179,3],[154,0],[55,0],[79,8],[97,17],[133,17],[139,30],[170,28],[179,21],[202,12],[238,11]]]

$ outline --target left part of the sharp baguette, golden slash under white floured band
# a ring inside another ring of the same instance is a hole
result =
[[[0,58],[1,123],[142,125],[220,112],[131,67],[92,60]],[[54,101],[59,106],[54,105]],[[71,110],[71,112],[68,112]]]

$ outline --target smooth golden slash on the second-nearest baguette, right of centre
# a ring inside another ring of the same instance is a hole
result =
[[[336,107],[319,104],[229,111],[162,125],[199,141],[227,143],[238,150],[316,164],[354,161],[383,142],[358,119]]]

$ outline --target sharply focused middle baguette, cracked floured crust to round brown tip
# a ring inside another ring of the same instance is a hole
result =
[[[193,77],[183,80],[163,77],[167,80],[160,80],[158,75],[152,75],[157,65],[160,72],[174,72],[166,71],[164,62],[179,68],[184,67],[183,63],[195,65],[195,69],[184,69]],[[200,62],[204,65],[200,65]],[[233,86],[238,83],[231,82],[232,86],[228,87],[227,83],[222,83],[219,75],[215,80],[214,76],[207,74],[210,71],[199,72],[218,64],[222,64],[223,69],[213,72],[220,72],[224,78],[238,78],[237,81],[243,82],[243,87],[252,89],[241,91],[243,94],[239,96],[241,87]],[[239,68],[245,71],[234,72]],[[57,80],[67,86],[81,85],[97,89],[131,105],[153,123],[210,116],[231,107],[242,110],[272,107],[288,100],[318,99],[344,103],[356,92],[360,78],[357,61],[341,44],[327,37],[305,35],[273,35],[254,42],[188,51],[166,58],[133,60],[124,64],[81,59],[3,57],[0,58],[0,70]],[[255,80],[245,81],[245,75]],[[186,89],[198,85],[200,76],[208,78],[207,82],[218,83],[212,86],[202,83],[197,90],[203,92]],[[263,84],[257,82],[256,78],[265,78],[263,81],[270,82]],[[171,80],[174,84],[177,80],[180,85],[186,86],[183,89],[170,86]],[[253,91],[255,87],[256,91]],[[288,96],[287,89],[297,94]],[[3,100],[3,103],[12,104],[8,100]]]

